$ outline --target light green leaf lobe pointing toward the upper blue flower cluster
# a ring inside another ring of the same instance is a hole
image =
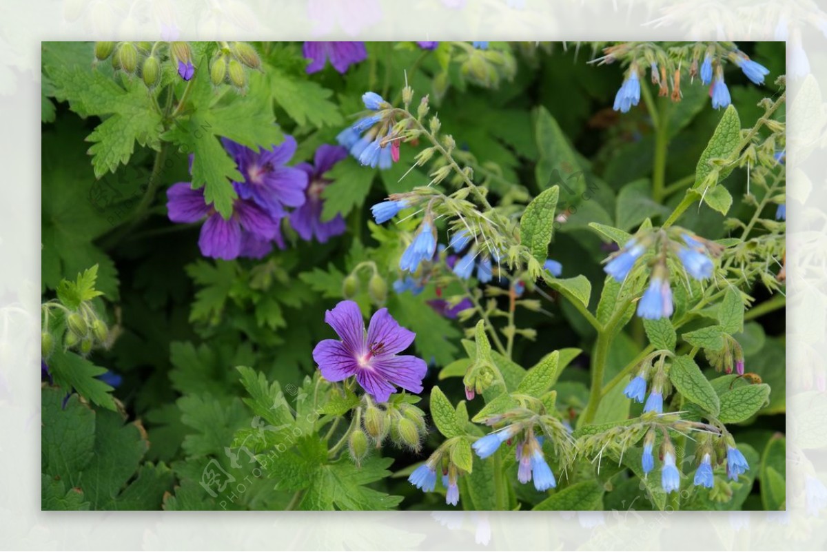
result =
[[[284,108],[296,124],[304,126],[308,121],[313,126],[342,124],[342,114],[337,104],[327,99],[333,94],[327,88],[322,88],[312,80],[285,74],[270,65],[265,66],[265,74],[270,81],[270,93],[275,102]]]

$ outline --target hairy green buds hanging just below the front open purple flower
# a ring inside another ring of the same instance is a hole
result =
[[[389,402],[376,403],[370,395],[362,397],[347,441],[351,459],[356,464],[366,457],[371,444],[380,449],[385,440],[414,452],[422,448],[423,437],[428,433],[425,412],[406,402],[409,398],[399,395]]]

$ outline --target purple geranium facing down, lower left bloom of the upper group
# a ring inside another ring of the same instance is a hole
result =
[[[194,190],[189,182],[173,184],[166,195],[170,221],[191,223],[207,218],[198,238],[198,247],[205,257],[227,260],[241,256],[261,257],[270,252],[270,240],[283,246],[278,219],[255,202],[237,199],[232,206],[232,216],[224,219],[204,201],[203,188]]]

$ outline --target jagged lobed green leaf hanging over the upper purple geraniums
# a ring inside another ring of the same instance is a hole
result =
[[[199,68],[208,67],[202,59]],[[253,150],[270,149],[283,140],[280,127],[275,124],[270,95],[264,88],[259,73],[251,73],[251,93],[239,97],[227,90],[216,94],[207,70],[196,70],[190,81],[192,93],[189,101],[192,109],[186,116],[174,120],[174,126],[163,138],[178,145],[181,150],[194,154],[192,183],[194,188],[204,187],[204,200],[229,218],[236,192],[232,181],[243,180],[236,161],[224,150],[219,137],[226,137]],[[230,94],[232,101],[222,102]]]

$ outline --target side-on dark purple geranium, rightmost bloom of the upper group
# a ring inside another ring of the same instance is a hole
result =
[[[304,205],[290,213],[290,224],[299,233],[302,240],[313,240],[313,236],[320,243],[324,243],[332,236],[338,236],[345,231],[345,220],[337,215],[329,221],[322,221],[322,191],[327,188],[330,180],[323,178],[323,174],[332,169],[342,159],[347,157],[347,150],[338,145],[323,144],[316,150],[313,164],[300,163],[296,169],[308,175],[307,197]]]

